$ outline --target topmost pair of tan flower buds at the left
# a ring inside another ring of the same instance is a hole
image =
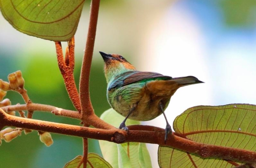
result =
[[[21,71],[16,71],[8,75],[9,85],[11,89],[18,89],[24,87],[24,79],[22,78]]]

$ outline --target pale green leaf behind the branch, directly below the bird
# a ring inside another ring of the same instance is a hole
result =
[[[119,127],[120,123],[124,120],[124,116],[118,114],[113,108],[105,111],[100,118],[115,127]],[[128,119],[125,124],[127,126],[138,125],[140,122]],[[113,168],[152,167],[151,158],[145,143],[129,142],[116,144],[108,141],[99,142],[104,159],[106,159]]]

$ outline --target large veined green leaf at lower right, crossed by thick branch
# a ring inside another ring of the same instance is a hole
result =
[[[229,104],[196,106],[177,116],[173,123],[176,133],[212,145],[256,151],[256,106]],[[219,159],[203,159],[183,151],[159,146],[160,167],[234,167],[240,163]]]

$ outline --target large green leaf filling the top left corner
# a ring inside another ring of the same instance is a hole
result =
[[[52,41],[68,41],[75,32],[84,0],[0,0],[5,19],[20,32]]]

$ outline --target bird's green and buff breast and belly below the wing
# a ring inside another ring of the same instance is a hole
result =
[[[135,83],[108,91],[108,102],[119,114],[127,116],[131,108],[136,108],[129,116],[132,120],[148,121],[162,114],[159,102],[167,107],[170,97],[152,94],[146,84]]]

